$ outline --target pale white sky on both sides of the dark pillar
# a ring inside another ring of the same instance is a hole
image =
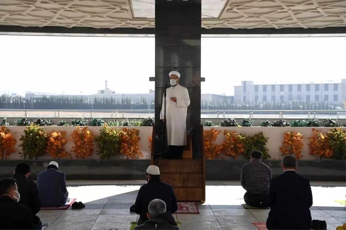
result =
[[[345,76],[346,37],[202,38],[202,93],[233,95],[242,80]],[[155,38],[0,35],[0,93],[95,94],[154,89]],[[184,77],[184,76],[182,76]]]

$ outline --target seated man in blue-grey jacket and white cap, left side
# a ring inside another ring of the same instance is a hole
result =
[[[62,207],[67,202],[65,173],[58,171],[58,163],[51,161],[45,171],[37,174],[37,188],[42,207]]]

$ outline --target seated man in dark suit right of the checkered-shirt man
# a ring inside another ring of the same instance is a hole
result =
[[[282,159],[283,174],[272,179],[268,194],[271,208],[268,230],[310,230],[312,193],[310,181],[295,172],[297,159],[288,155]]]

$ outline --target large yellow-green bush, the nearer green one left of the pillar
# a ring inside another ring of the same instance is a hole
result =
[[[100,135],[95,137],[100,159],[110,159],[120,152],[120,132],[107,124],[103,126]]]

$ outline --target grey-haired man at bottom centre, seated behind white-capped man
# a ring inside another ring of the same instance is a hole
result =
[[[149,203],[147,218],[149,220],[137,226],[135,230],[179,230],[172,213],[166,212],[166,204],[160,199]]]

